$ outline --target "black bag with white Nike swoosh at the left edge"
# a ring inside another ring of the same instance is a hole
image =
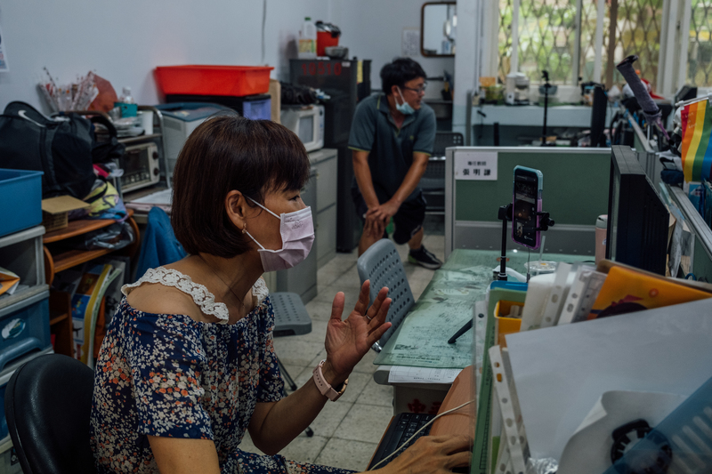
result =
[[[24,102],[0,116],[0,168],[42,171],[42,197],[83,199],[92,190],[93,125],[68,114],[51,119]]]

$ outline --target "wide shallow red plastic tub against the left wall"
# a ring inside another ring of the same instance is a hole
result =
[[[270,91],[269,66],[159,66],[156,82],[165,94],[253,95]]]

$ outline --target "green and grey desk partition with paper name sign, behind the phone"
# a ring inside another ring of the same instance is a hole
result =
[[[477,152],[497,153],[496,181],[456,179],[456,160],[469,160]],[[446,156],[446,258],[456,248],[501,248],[498,209],[512,202],[514,166],[522,165],[544,173],[544,211],[556,222],[543,234],[544,251],[591,255],[593,260],[595,220],[608,212],[611,149],[454,147]],[[527,250],[506,240],[510,249]]]

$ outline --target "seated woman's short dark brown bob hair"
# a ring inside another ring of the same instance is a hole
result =
[[[266,193],[299,190],[308,179],[309,157],[287,127],[237,115],[208,118],[190,133],[175,164],[175,237],[192,255],[245,253],[251,239],[228,218],[227,194],[236,189],[264,204]]]

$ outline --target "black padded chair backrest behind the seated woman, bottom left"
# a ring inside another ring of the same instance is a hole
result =
[[[5,418],[24,474],[94,474],[89,445],[94,373],[75,358],[33,358],[5,389]]]

